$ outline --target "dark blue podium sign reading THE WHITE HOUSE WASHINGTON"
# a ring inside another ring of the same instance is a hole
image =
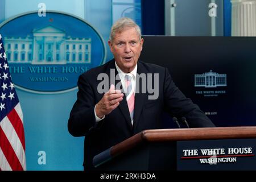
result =
[[[256,139],[177,142],[177,170],[256,170]]]

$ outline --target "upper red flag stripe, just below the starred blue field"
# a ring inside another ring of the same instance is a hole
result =
[[[23,123],[22,120],[20,119],[18,113],[16,113],[16,110],[13,109],[10,111],[10,113],[7,115],[9,121],[13,125],[16,134],[18,134],[18,137],[22,143],[22,146],[25,150],[25,139],[24,139],[24,128],[23,128]]]

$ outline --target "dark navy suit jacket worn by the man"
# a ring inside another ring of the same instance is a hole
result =
[[[116,109],[96,124],[94,106],[104,95],[97,91],[97,86],[102,81],[97,80],[97,77],[100,73],[106,73],[110,79],[110,69],[115,70],[115,75],[118,74],[114,60],[80,75],[77,101],[71,110],[68,130],[75,137],[85,136],[84,169],[95,169],[92,165],[95,155],[134,134],[147,129],[162,129],[163,111],[172,117],[187,118],[190,127],[214,127],[203,111],[175,86],[167,68],[142,61],[138,61],[137,65],[138,74],[159,74],[159,97],[156,100],[148,100],[148,92],[136,91],[133,126],[125,96]],[[119,81],[115,81],[115,84],[117,82]]]

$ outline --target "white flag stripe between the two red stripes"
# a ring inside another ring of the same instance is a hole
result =
[[[10,120],[7,117],[3,118],[0,126],[3,129],[3,133],[5,133],[6,138],[9,140],[11,147],[13,147],[13,150],[18,157],[20,164],[22,164],[23,168],[26,168],[26,162],[24,160],[25,152]]]

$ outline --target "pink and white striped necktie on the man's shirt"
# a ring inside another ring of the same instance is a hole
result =
[[[131,84],[131,76],[125,75],[125,83],[126,83],[126,101],[128,104],[129,112],[130,112],[130,117],[131,117],[131,125],[133,125],[133,114],[134,114],[134,102],[135,102],[135,96],[133,93],[133,87]]]

